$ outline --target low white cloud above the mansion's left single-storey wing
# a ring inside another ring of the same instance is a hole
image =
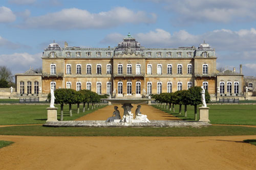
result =
[[[12,69],[13,74],[24,73],[30,68],[41,67],[42,53],[28,54],[28,53],[14,53],[0,55],[1,65],[6,65]]]

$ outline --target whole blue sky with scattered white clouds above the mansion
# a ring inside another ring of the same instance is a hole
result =
[[[217,68],[243,64],[256,76],[256,1],[230,0],[2,0],[0,65],[13,74],[41,66],[53,40],[63,47],[114,47],[131,33],[145,47],[216,49]]]

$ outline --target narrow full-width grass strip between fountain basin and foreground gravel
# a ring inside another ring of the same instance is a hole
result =
[[[13,126],[0,128],[0,135],[30,136],[225,136],[256,135],[256,128],[210,126],[203,128],[86,128]]]

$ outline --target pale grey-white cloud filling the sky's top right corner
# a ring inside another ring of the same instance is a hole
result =
[[[194,21],[245,21],[256,19],[256,1],[230,1],[230,0],[140,0],[164,4],[164,8],[175,12],[177,22],[180,24]]]

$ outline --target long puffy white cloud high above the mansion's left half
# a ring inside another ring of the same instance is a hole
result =
[[[116,7],[107,12],[90,13],[77,8],[62,9],[59,12],[29,17],[19,27],[50,29],[103,29],[125,23],[154,23],[156,14],[144,11],[134,12],[125,7]]]

